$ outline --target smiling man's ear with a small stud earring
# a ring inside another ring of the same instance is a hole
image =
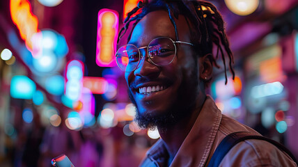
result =
[[[212,77],[212,54],[206,54],[199,58],[200,79],[209,81]]]

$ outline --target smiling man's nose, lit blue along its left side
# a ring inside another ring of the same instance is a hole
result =
[[[138,67],[134,70],[134,75],[141,77],[157,77],[160,72],[160,67],[149,60],[146,50],[146,48],[140,49],[141,59]]]

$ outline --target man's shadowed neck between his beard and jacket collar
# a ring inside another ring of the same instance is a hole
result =
[[[175,125],[167,127],[166,129],[157,127],[159,134],[166,145],[166,149],[168,150],[169,159],[173,160],[191,128],[194,126],[194,122],[196,122],[196,118],[198,118],[198,114],[205,102],[205,98],[206,95],[199,96],[196,100],[196,104],[191,108],[191,112],[185,112],[189,113],[188,116],[179,120]]]

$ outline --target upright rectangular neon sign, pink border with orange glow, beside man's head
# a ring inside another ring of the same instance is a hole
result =
[[[113,56],[116,53],[118,18],[115,10],[102,9],[98,12],[96,63],[101,67],[116,65]]]

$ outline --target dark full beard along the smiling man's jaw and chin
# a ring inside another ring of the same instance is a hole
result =
[[[178,90],[178,99],[173,102],[173,105],[162,113],[139,112],[139,107],[134,100],[130,90],[128,95],[132,104],[136,106],[136,117],[134,120],[142,129],[156,129],[166,131],[173,127],[177,122],[189,116],[192,109],[195,107],[196,96],[198,95],[198,72],[194,68],[191,70],[192,79],[182,79],[182,83]]]

